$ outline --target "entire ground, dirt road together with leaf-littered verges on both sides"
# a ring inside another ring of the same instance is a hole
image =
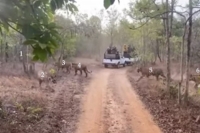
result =
[[[60,73],[56,84],[50,84],[51,88],[43,85],[43,89],[38,88],[36,80],[20,75],[22,70],[9,71],[14,69],[11,65],[1,71],[0,133],[200,131],[195,123],[200,109],[193,105],[191,109],[179,110],[173,101],[167,101],[158,91],[163,87],[162,82],[150,78],[135,84],[139,74],[134,69],[128,71],[130,67],[105,69],[95,61],[83,58],[75,59],[75,62],[87,64],[93,73],[88,78],[74,76],[74,72]],[[37,65],[40,67],[41,64]],[[15,66],[15,69],[19,68]]]

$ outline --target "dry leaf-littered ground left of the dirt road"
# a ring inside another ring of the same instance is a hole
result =
[[[20,68],[5,64],[1,71],[0,133],[75,132],[80,100],[93,75],[60,73],[56,84],[39,89],[38,82],[24,76]],[[88,69],[98,71],[95,65]]]

